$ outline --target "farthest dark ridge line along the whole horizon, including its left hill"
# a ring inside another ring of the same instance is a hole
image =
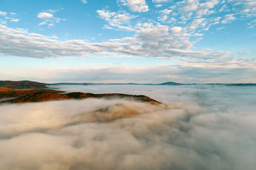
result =
[[[197,85],[197,84],[180,84],[176,82],[164,82],[161,84],[136,84],[136,83],[127,83],[127,84],[93,84],[93,83],[55,83],[55,84],[46,84],[36,81],[0,81],[0,87],[5,87],[9,89],[48,89],[48,85],[58,86],[58,85],[151,85],[151,86],[184,86],[184,85]],[[256,84],[202,84],[202,85],[223,85],[223,86],[256,86]]]

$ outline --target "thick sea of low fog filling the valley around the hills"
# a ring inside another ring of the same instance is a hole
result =
[[[131,99],[0,106],[0,169],[243,169],[256,167],[256,88],[58,86],[144,94]]]

